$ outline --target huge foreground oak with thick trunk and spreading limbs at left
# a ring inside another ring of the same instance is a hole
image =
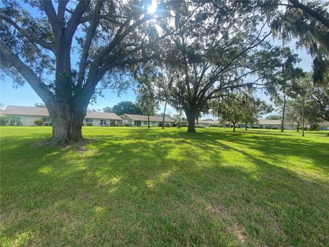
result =
[[[49,110],[51,143],[82,141],[82,121],[95,93],[138,62],[155,58],[166,36],[150,1],[3,1],[1,70],[27,82]],[[100,83],[101,82],[101,83]],[[116,85],[117,86],[117,85]]]

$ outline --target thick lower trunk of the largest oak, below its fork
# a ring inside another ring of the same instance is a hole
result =
[[[86,110],[73,109],[69,104],[51,102],[47,104],[53,135],[49,144],[77,143],[84,141],[82,123]]]

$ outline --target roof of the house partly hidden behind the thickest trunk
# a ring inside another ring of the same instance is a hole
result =
[[[34,106],[7,106],[5,110],[1,110],[1,114],[49,117],[47,108],[34,107]],[[121,117],[119,117],[115,113],[99,113],[99,112],[87,112],[86,118],[122,120]]]

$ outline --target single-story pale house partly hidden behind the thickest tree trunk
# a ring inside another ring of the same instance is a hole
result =
[[[14,125],[35,126],[36,119],[42,119],[45,124],[51,124],[48,110],[43,107],[7,106],[5,110],[1,110],[1,115],[12,116]],[[121,121],[122,119],[115,113],[87,112],[84,125],[120,126]]]

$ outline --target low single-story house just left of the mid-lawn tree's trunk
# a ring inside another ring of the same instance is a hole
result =
[[[123,124],[128,126],[147,126],[147,115],[123,114],[121,116]],[[163,117],[149,116],[150,126],[161,126]],[[175,121],[170,117],[164,117],[164,124],[173,126]]]

